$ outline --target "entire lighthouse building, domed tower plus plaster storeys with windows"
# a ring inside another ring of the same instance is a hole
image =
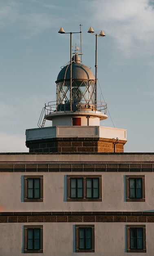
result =
[[[123,153],[127,130],[100,126],[107,105],[79,53],[56,88],[29,153],[0,153],[0,256],[152,256],[154,153]]]

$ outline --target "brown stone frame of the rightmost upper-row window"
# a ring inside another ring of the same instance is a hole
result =
[[[142,179],[142,198],[130,198],[130,179]],[[145,202],[145,175],[126,175],[126,201]]]

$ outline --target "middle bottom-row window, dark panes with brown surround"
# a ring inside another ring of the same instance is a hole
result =
[[[95,252],[95,226],[75,225],[76,252]]]

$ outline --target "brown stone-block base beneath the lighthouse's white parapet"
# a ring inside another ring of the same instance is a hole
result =
[[[37,139],[26,141],[29,153],[83,153],[83,152],[104,152],[123,153],[124,140],[106,138],[53,138]],[[116,144],[115,144],[116,143]]]

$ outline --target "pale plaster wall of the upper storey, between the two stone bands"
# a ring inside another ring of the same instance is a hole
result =
[[[0,173],[0,210],[7,211],[154,211],[154,173],[145,175],[145,202],[126,202],[128,173],[72,173],[102,175],[102,202],[67,202],[69,173]],[[129,173],[139,175],[139,173]],[[24,175],[44,176],[44,201],[24,202]]]

